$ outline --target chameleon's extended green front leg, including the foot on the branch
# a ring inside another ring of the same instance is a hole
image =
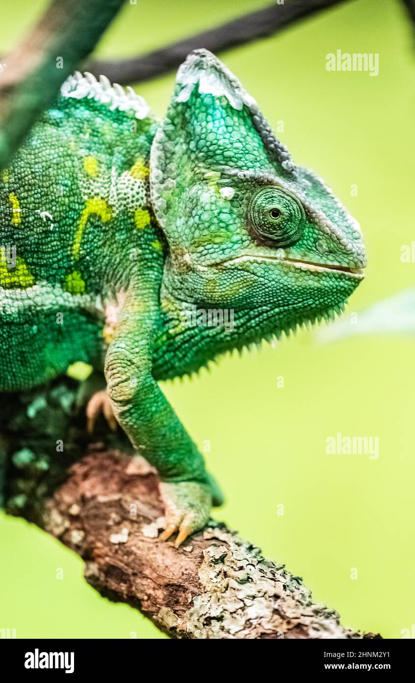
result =
[[[126,301],[108,346],[107,391],[117,421],[159,473],[166,514],[161,538],[178,531],[178,547],[209,519],[212,489],[202,455],[153,378],[157,301],[143,305],[142,296],[140,292]]]

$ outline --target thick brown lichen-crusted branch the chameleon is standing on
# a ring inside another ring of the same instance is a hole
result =
[[[172,638],[380,637],[341,626],[335,611],[313,602],[301,577],[223,524],[212,521],[179,550],[160,542],[155,471],[127,456],[125,435],[108,436],[104,423],[99,443],[88,446],[77,391],[77,382],[61,378],[8,397],[0,448],[5,508],[78,553],[99,593],[139,609]]]

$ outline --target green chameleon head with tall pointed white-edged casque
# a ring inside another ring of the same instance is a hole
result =
[[[234,309],[266,337],[333,317],[363,278],[358,223],[291,161],[241,83],[211,53],[179,68],[151,151],[166,234],[164,285],[178,300]]]

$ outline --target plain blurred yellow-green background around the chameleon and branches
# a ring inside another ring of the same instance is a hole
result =
[[[45,4],[3,3],[3,53]],[[142,53],[266,4],[127,3],[98,53]],[[379,53],[379,75],[326,71],[337,49]],[[345,3],[220,57],[271,125],[283,121],[278,137],[294,161],[322,176],[363,228],[369,268],[346,316],[413,285],[415,264],[400,260],[415,239],[415,60],[401,3]],[[137,89],[162,116],[173,82],[171,74]],[[415,623],[413,358],[410,337],[320,346],[302,332],[164,386],[200,447],[211,442],[209,469],[227,494],[215,515],[303,576],[343,624],[387,638]],[[380,457],[326,455],[337,432],[378,436]],[[3,515],[0,539],[1,628],[19,638],[164,637],[133,609],[100,598],[80,559],[46,533]]]

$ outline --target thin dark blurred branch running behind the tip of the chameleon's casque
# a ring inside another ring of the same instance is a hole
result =
[[[303,19],[345,0],[285,0],[283,5],[271,5],[264,10],[245,14],[210,31],[197,33],[154,52],[132,59],[102,59],[85,67],[95,76],[105,74],[112,83],[125,85],[147,81],[176,69],[196,48],[219,53],[236,45],[272,36],[298,19]]]

